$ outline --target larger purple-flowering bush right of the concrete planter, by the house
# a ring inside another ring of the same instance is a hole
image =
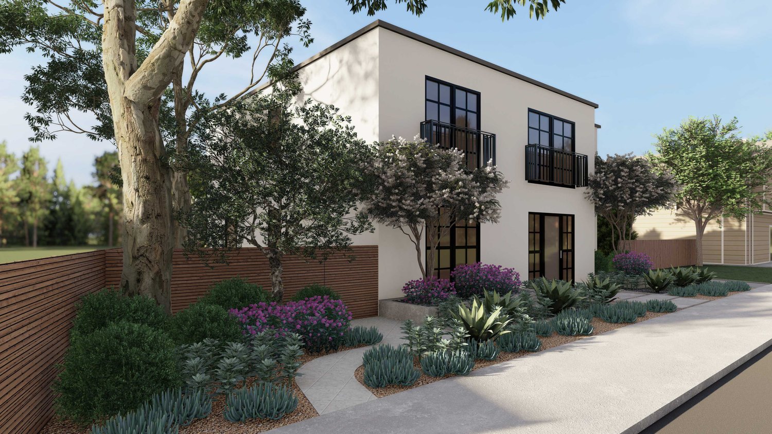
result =
[[[520,286],[520,273],[513,268],[501,265],[461,264],[450,274],[455,283],[455,291],[461,298],[482,295],[482,290],[506,294],[516,291]]]

